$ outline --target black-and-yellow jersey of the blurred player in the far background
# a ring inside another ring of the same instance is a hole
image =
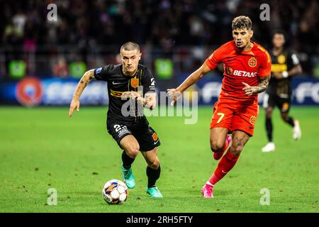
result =
[[[291,70],[292,67],[299,65],[298,57],[296,53],[287,49],[284,49],[279,55],[274,55],[273,50],[269,54],[272,57],[272,77],[269,81],[267,93],[288,98],[291,96],[291,77],[276,79],[274,72]]]

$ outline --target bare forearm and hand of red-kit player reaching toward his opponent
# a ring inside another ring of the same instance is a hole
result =
[[[184,82],[179,85],[176,89],[167,89],[167,92],[169,94],[169,98],[171,98],[173,101],[171,105],[173,106],[174,103],[179,99],[179,96],[181,96],[181,93],[183,93],[186,89],[191,87],[191,85],[195,84],[198,79],[201,79],[205,74],[210,72],[211,69],[206,65],[206,62],[201,65],[201,67],[198,68],[195,72],[189,75]]]

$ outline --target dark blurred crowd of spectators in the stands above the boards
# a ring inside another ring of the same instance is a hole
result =
[[[259,19],[263,3],[270,6],[271,21]],[[191,49],[212,50],[231,40],[232,18],[242,14],[252,18],[254,38],[261,45],[269,45],[274,29],[284,30],[299,53],[304,76],[311,77],[318,63],[318,0],[63,0],[55,4],[58,18],[53,23],[43,20],[47,1],[4,1],[0,7],[2,74],[11,60],[23,59],[27,74],[47,77],[52,73],[48,49],[64,55],[67,62],[72,57],[66,50],[79,49],[77,54],[88,68],[97,67],[111,63],[118,47],[128,40],[159,50],[144,57],[144,65],[155,67],[154,61],[165,57],[172,59],[174,74],[189,72],[204,60],[192,57]],[[109,49],[112,46],[114,51]],[[181,51],[182,47],[186,48]]]

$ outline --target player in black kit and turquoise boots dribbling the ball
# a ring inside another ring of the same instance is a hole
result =
[[[142,53],[138,44],[125,43],[121,46],[120,52],[123,64],[106,65],[84,74],[74,92],[69,117],[74,109],[79,111],[79,98],[91,79],[106,81],[109,99],[106,126],[108,133],[123,149],[121,169],[125,184],[130,189],[135,187],[131,165],[141,151],[147,162],[146,192],[154,198],[161,198],[162,194],[155,186],[161,172],[157,157],[160,142],[157,133],[142,114],[144,107],[155,109],[155,80],[152,72],[139,64]]]

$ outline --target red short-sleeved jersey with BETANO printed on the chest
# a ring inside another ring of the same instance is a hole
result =
[[[252,42],[251,50],[239,50],[232,40],[220,46],[206,60],[206,65],[214,70],[221,62],[224,65],[224,79],[220,96],[231,99],[257,100],[257,94],[246,96],[242,90],[246,84],[256,86],[259,84],[258,77],[270,75],[272,66],[271,58],[267,50],[261,45]]]

